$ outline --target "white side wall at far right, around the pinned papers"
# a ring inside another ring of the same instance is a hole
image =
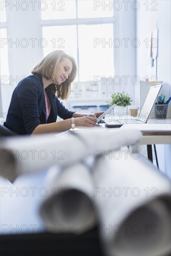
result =
[[[164,81],[171,88],[171,1],[158,0],[139,1],[140,9],[137,11],[137,38],[140,47],[137,48],[137,75],[141,80],[147,75],[147,51],[144,40],[148,37],[151,28],[158,24],[158,81]],[[154,7],[155,6],[155,7]],[[153,10],[152,9],[157,9]],[[171,96],[171,89],[170,89]],[[171,145],[157,145],[159,168],[171,177]],[[165,153],[165,155],[164,155]]]

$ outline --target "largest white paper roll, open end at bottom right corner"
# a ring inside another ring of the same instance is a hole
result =
[[[99,157],[93,176],[105,254],[170,255],[169,180],[151,162],[128,148]]]

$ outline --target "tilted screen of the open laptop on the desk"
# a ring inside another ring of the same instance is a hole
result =
[[[162,88],[162,85],[156,85],[150,88],[150,91],[145,99],[143,107],[141,108],[141,111],[139,113],[139,118],[143,119],[144,121],[148,120],[152,107],[156,102],[156,99],[158,97],[158,94],[161,88]]]

